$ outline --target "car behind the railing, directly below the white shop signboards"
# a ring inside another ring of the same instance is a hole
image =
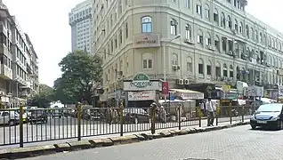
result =
[[[150,115],[143,108],[125,108],[123,116],[125,123],[150,123]]]

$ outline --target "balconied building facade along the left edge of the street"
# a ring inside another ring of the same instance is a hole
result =
[[[28,56],[32,53],[26,34],[4,4],[0,8],[0,35],[1,107],[11,108],[25,103],[31,95]]]

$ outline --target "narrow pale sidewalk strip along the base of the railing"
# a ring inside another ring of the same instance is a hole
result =
[[[233,119],[232,124],[236,124],[241,122],[241,118]],[[226,121],[226,120],[225,120]],[[228,125],[230,124],[230,118],[227,119],[228,122],[219,122],[218,126]],[[245,120],[244,122],[247,122],[249,120]],[[214,120],[214,125],[216,125],[216,119]],[[201,120],[201,127],[205,128],[207,126],[207,119]],[[191,125],[191,126],[182,126],[181,129],[188,129],[188,128],[199,128],[199,125]],[[178,127],[173,128],[165,128],[165,129],[157,129],[156,132],[164,132],[168,130],[174,130],[178,129]],[[150,133],[150,131],[143,131],[143,132],[125,132],[123,135],[133,135],[133,134],[141,134],[141,133]],[[102,138],[111,138],[111,137],[119,137],[120,134],[106,134],[106,135],[100,135],[100,136],[90,136],[90,137],[82,137],[82,140],[93,140],[93,139],[102,139]],[[31,147],[31,146],[43,146],[43,145],[53,145],[55,143],[66,143],[67,141],[77,141],[77,139],[65,139],[65,140],[50,140],[50,141],[41,141],[41,142],[34,142],[34,143],[25,143],[24,147]],[[2,146],[0,149],[4,148],[19,148],[20,145],[9,145],[9,146]]]

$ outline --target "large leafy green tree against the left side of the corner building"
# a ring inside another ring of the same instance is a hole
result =
[[[55,97],[62,103],[93,101],[93,84],[101,82],[102,60],[83,51],[69,52],[59,63],[62,75],[54,81]]]

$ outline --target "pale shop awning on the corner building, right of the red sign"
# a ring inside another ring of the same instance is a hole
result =
[[[203,92],[196,92],[184,89],[170,89],[171,92],[176,92],[175,95],[181,97],[182,100],[203,100],[205,95]]]

